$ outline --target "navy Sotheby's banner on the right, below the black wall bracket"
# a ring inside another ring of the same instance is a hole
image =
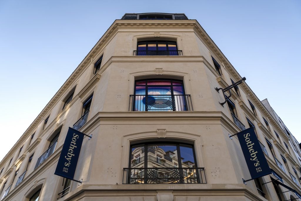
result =
[[[254,128],[251,127],[237,133],[237,137],[244,153],[251,178],[256,179],[267,174],[272,174],[254,132]]]

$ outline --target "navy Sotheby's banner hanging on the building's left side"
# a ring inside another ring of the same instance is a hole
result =
[[[84,133],[69,127],[54,174],[73,180]]]

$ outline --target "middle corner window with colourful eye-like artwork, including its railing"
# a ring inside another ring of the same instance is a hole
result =
[[[192,111],[182,80],[138,80],[131,100],[132,111]]]

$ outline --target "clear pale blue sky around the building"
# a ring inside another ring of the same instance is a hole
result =
[[[144,4],[145,3],[145,4]],[[115,19],[196,19],[260,100],[301,141],[301,1],[0,1],[0,159]]]

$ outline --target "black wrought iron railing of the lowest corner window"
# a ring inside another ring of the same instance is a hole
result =
[[[206,184],[204,168],[123,168],[123,184]]]

